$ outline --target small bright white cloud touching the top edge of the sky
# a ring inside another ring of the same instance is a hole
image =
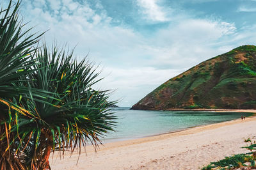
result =
[[[137,0],[138,5],[143,8],[143,14],[152,21],[168,21],[163,8],[157,4],[157,0]]]

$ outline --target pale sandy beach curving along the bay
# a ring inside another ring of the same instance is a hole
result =
[[[221,110],[223,112],[223,110]],[[236,110],[255,112],[255,110]],[[225,156],[246,153],[244,139],[256,141],[256,117],[233,120],[180,132],[108,143],[95,153],[86,147],[77,153],[50,160],[52,169],[200,169]]]

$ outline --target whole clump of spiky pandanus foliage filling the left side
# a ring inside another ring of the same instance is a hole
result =
[[[0,23],[1,169],[50,169],[51,151],[97,148],[113,130],[109,91],[95,90],[99,73],[73,52],[51,51],[22,32],[19,1],[2,10]],[[40,35],[41,36],[41,35]]]

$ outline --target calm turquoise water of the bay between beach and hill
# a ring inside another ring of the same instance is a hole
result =
[[[240,112],[136,111],[129,110],[129,107],[115,108],[114,111],[118,118],[116,132],[107,134],[104,142],[136,139],[199,125],[235,120],[241,118],[242,114],[246,117],[252,115]]]

